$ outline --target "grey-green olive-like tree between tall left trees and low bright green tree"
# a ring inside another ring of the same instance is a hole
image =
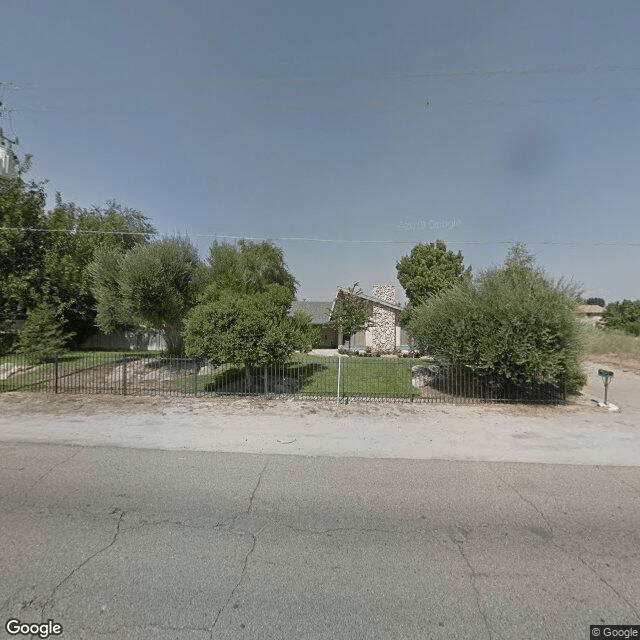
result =
[[[165,238],[126,253],[103,249],[90,269],[103,331],[162,331],[168,350],[181,353],[184,317],[196,302],[204,269],[188,240]]]

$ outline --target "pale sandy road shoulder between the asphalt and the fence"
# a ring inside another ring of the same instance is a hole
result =
[[[615,372],[609,401],[600,367]],[[565,406],[0,395],[0,440],[244,453],[640,466],[640,366],[585,363]]]

